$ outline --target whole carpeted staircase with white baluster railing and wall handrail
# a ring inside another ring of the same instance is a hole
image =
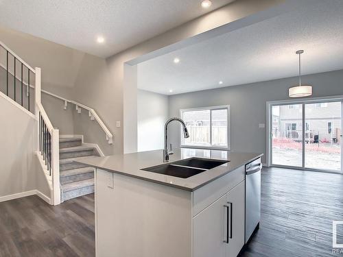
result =
[[[37,129],[32,133],[36,133],[38,138],[34,151],[40,162],[41,175],[45,175],[51,192],[44,199],[49,199],[51,205],[58,205],[61,201],[94,193],[94,169],[75,161],[99,156],[99,152],[97,148],[83,144],[81,138],[60,136],[45,112],[41,94],[59,99],[64,110],[72,107],[80,115],[82,110],[88,112],[89,119],[97,122],[104,131],[108,144],[113,144],[113,134],[93,108],[43,90],[41,80],[40,68],[29,66],[0,41],[0,97],[31,117],[34,115]]]

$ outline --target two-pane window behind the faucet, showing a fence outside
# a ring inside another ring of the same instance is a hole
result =
[[[189,132],[189,138],[181,133],[181,145],[229,148],[229,110],[229,106],[180,110]]]

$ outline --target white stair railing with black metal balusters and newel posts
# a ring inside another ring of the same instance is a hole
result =
[[[4,93],[19,103],[22,108],[34,113],[38,139],[36,152],[47,180],[51,182],[51,204],[60,204],[59,132],[52,126],[41,103],[40,68],[33,69],[1,41],[0,53],[5,53],[4,58],[0,56],[0,66],[5,71]],[[32,86],[32,79],[34,79],[34,86]],[[34,101],[31,97],[32,88],[34,88]],[[33,108],[30,106],[31,101]]]

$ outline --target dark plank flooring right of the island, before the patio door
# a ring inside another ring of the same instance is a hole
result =
[[[343,221],[343,175],[263,169],[260,228],[242,256],[340,256],[333,220]]]

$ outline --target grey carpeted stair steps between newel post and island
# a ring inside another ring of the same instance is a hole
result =
[[[75,162],[92,156],[99,156],[97,149],[81,138],[60,138],[61,201],[94,193],[94,168]]]

